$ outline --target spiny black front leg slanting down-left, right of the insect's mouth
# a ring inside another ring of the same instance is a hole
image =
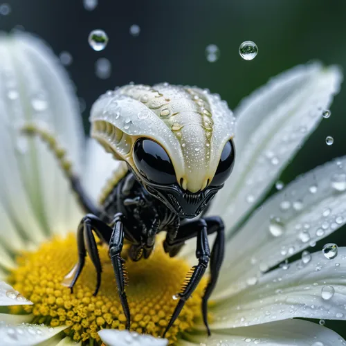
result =
[[[188,273],[188,276],[185,279],[183,289],[181,293],[179,293],[178,295],[179,302],[176,305],[176,309],[173,312],[172,318],[170,319],[170,322],[168,323],[163,333],[163,337],[165,337],[165,334],[167,333],[168,329],[172,327],[174,321],[176,320],[176,318],[178,318],[181,309],[183,309],[185,301],[188,300],[188,298],[190,298],[190,295],[201,281],[203,274],[206,272],[206,268],[208,266],[210,258],[206,221],[200,219],[197,221],[192,221],[186,226],[188,226],[190,229],[192,228],[192,232],[197,230],[196,257],[199,260],[199,263],[197,264],[197,266],[192,267],[192,270],[190,271],[190,273]],[[185,225],[182,226],[182,228],[183,227],[185,227]]]

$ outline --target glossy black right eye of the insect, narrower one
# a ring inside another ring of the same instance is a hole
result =
[[[235,164],[235,146],[233,140],[228,140],[221,153],[221,158],[215,176],[212,179],[212,186],[222,185],[230,176]]]

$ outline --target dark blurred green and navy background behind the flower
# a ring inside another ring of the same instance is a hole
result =
[[[35,33],[57,55],[62,51],[71,54],[73,61],[66,69],[81,98],[86,131],[89,109],[98,95],[130,81],[209,88],[234,109],[268,78],[296,64],[321,60],[344,69],[346,66],[343,0],[98,0],[94,10],[86,10],[83,0],[6,3],[10,12],[0,14],[0,30]],[[137,37],[129,33],[133,24],[140,27]],[[88,35],[96,28],[109,36],[104,51],[93,51],[88,44]],[[252,61],[243,60],[238,53],[239,44],[246,40],[259,48]],[[219,60],[213,63],[205,55],[209,44],[220,50]],[[111,62],[107,79],[95,74],[95,62],[100,57]],[[322,120],[282,174],[284,183],[346,154],[345,109],[346,85],[331,107],[331,117]],[[326,145],[326,136],[334,137],[334,145]],[[322,240],[316,250],[326,242],[345,246],[345,230]],[[326,323],[346,338],[345,325]]]

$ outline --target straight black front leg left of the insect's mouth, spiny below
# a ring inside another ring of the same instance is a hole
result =
[[[118,293],[122,310],[126,316],[126,328],[130,327],[130,313],[129,303],[127,302],[127,296],[125,293],[125,284],[127,284],[127,273],[125,271],[125,260],[120,256],[122,246],[124,245],[124,229],[123,229],[123,215],[118,213],[114,218],[113,233],[109,242],[109,255],[111,257],[111,263],[113,264],[114,273],[116,275],[116,284],[118,286]]]

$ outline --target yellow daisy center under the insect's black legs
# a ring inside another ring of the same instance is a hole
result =
[[[10,273],[10,283],[33,305],[12,307],[12,313],[33,313],[35,323],[52,327],[66,325],[65,333],[75,341],[95,339],[100,343],[98,331],[104,328],[125,329],[116,280],[106,246],[98,246],[102,263],[102,282],[98,295],[93,296],[96,274],[93,264],[86,258],[82,274],[73,288],[62,285],[64,276],[77,262],[75,235],[62,239],[55,237],[42,244],[35,252],[22,253],[17,268]],[[124,251],[123,251],[124,252]],[[190,266],[178,258],[170,258],[162,246],[156,246],[148,260],[127,260],[129,286],[126,288],[131,312],[131,330],[141,334],[162,336],[165,326],[176,307],[174,295]],[[190,329],[201,314],[203,280],[186,302],[179,318],[167,332],[170,344],[177,336]]]

